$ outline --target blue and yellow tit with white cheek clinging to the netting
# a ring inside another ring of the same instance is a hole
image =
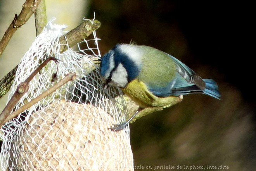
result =
[[[122,130],[146,107],[168,105],[170,96],[203,93],[220,99],[213,79],[202,79],[175,57],[144,45],[117,44],[100,62],[100,77],[107,86],[116,86],[139,105],[131,118],[111,130]]]

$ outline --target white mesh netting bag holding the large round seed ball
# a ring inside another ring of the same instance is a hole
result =
[[[67,73],[75,72],[77,77],[2,127],[2,169],[133,170],[129,128],[107,129],[125,120],[125,102],[122,97],[116,98],[120,90],[113,87],[103,90],[98,68],[92,62],[100,56],[96,33],[93,32],[92,40],[79,43],[79,50],[70,48],[60,54],[59,37],[64,35],[64,28],[66,26],[50,21],[36,38],[21,59],[9,99],[17,85],[50,56],[61,61],[57,65],[50,61],[32,79],[29,91],[16,109],[45,92]],[[57,79],[52,83],[57,66]]]

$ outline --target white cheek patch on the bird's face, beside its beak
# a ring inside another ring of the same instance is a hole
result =
[[[128,83],[127,72],[122,64],[119,64],[116,70],[112,73],[112,84],[119,87],[125,87]]]

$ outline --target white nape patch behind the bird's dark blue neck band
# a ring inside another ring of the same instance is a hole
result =
[[[130,58],[138,68],[141,67],[142,51],[136,45],[122,44],[119,46],[120,52],[123,52]]]

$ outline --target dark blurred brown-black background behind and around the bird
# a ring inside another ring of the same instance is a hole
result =
[[[94,11],[101,22],[102,55],[131,40],[152,46],[216,80],[222,95],[222,100],[187,95],[130,124],[135,166],[255,169],[252,7],[242,1],[92,1],[89,18]]]

